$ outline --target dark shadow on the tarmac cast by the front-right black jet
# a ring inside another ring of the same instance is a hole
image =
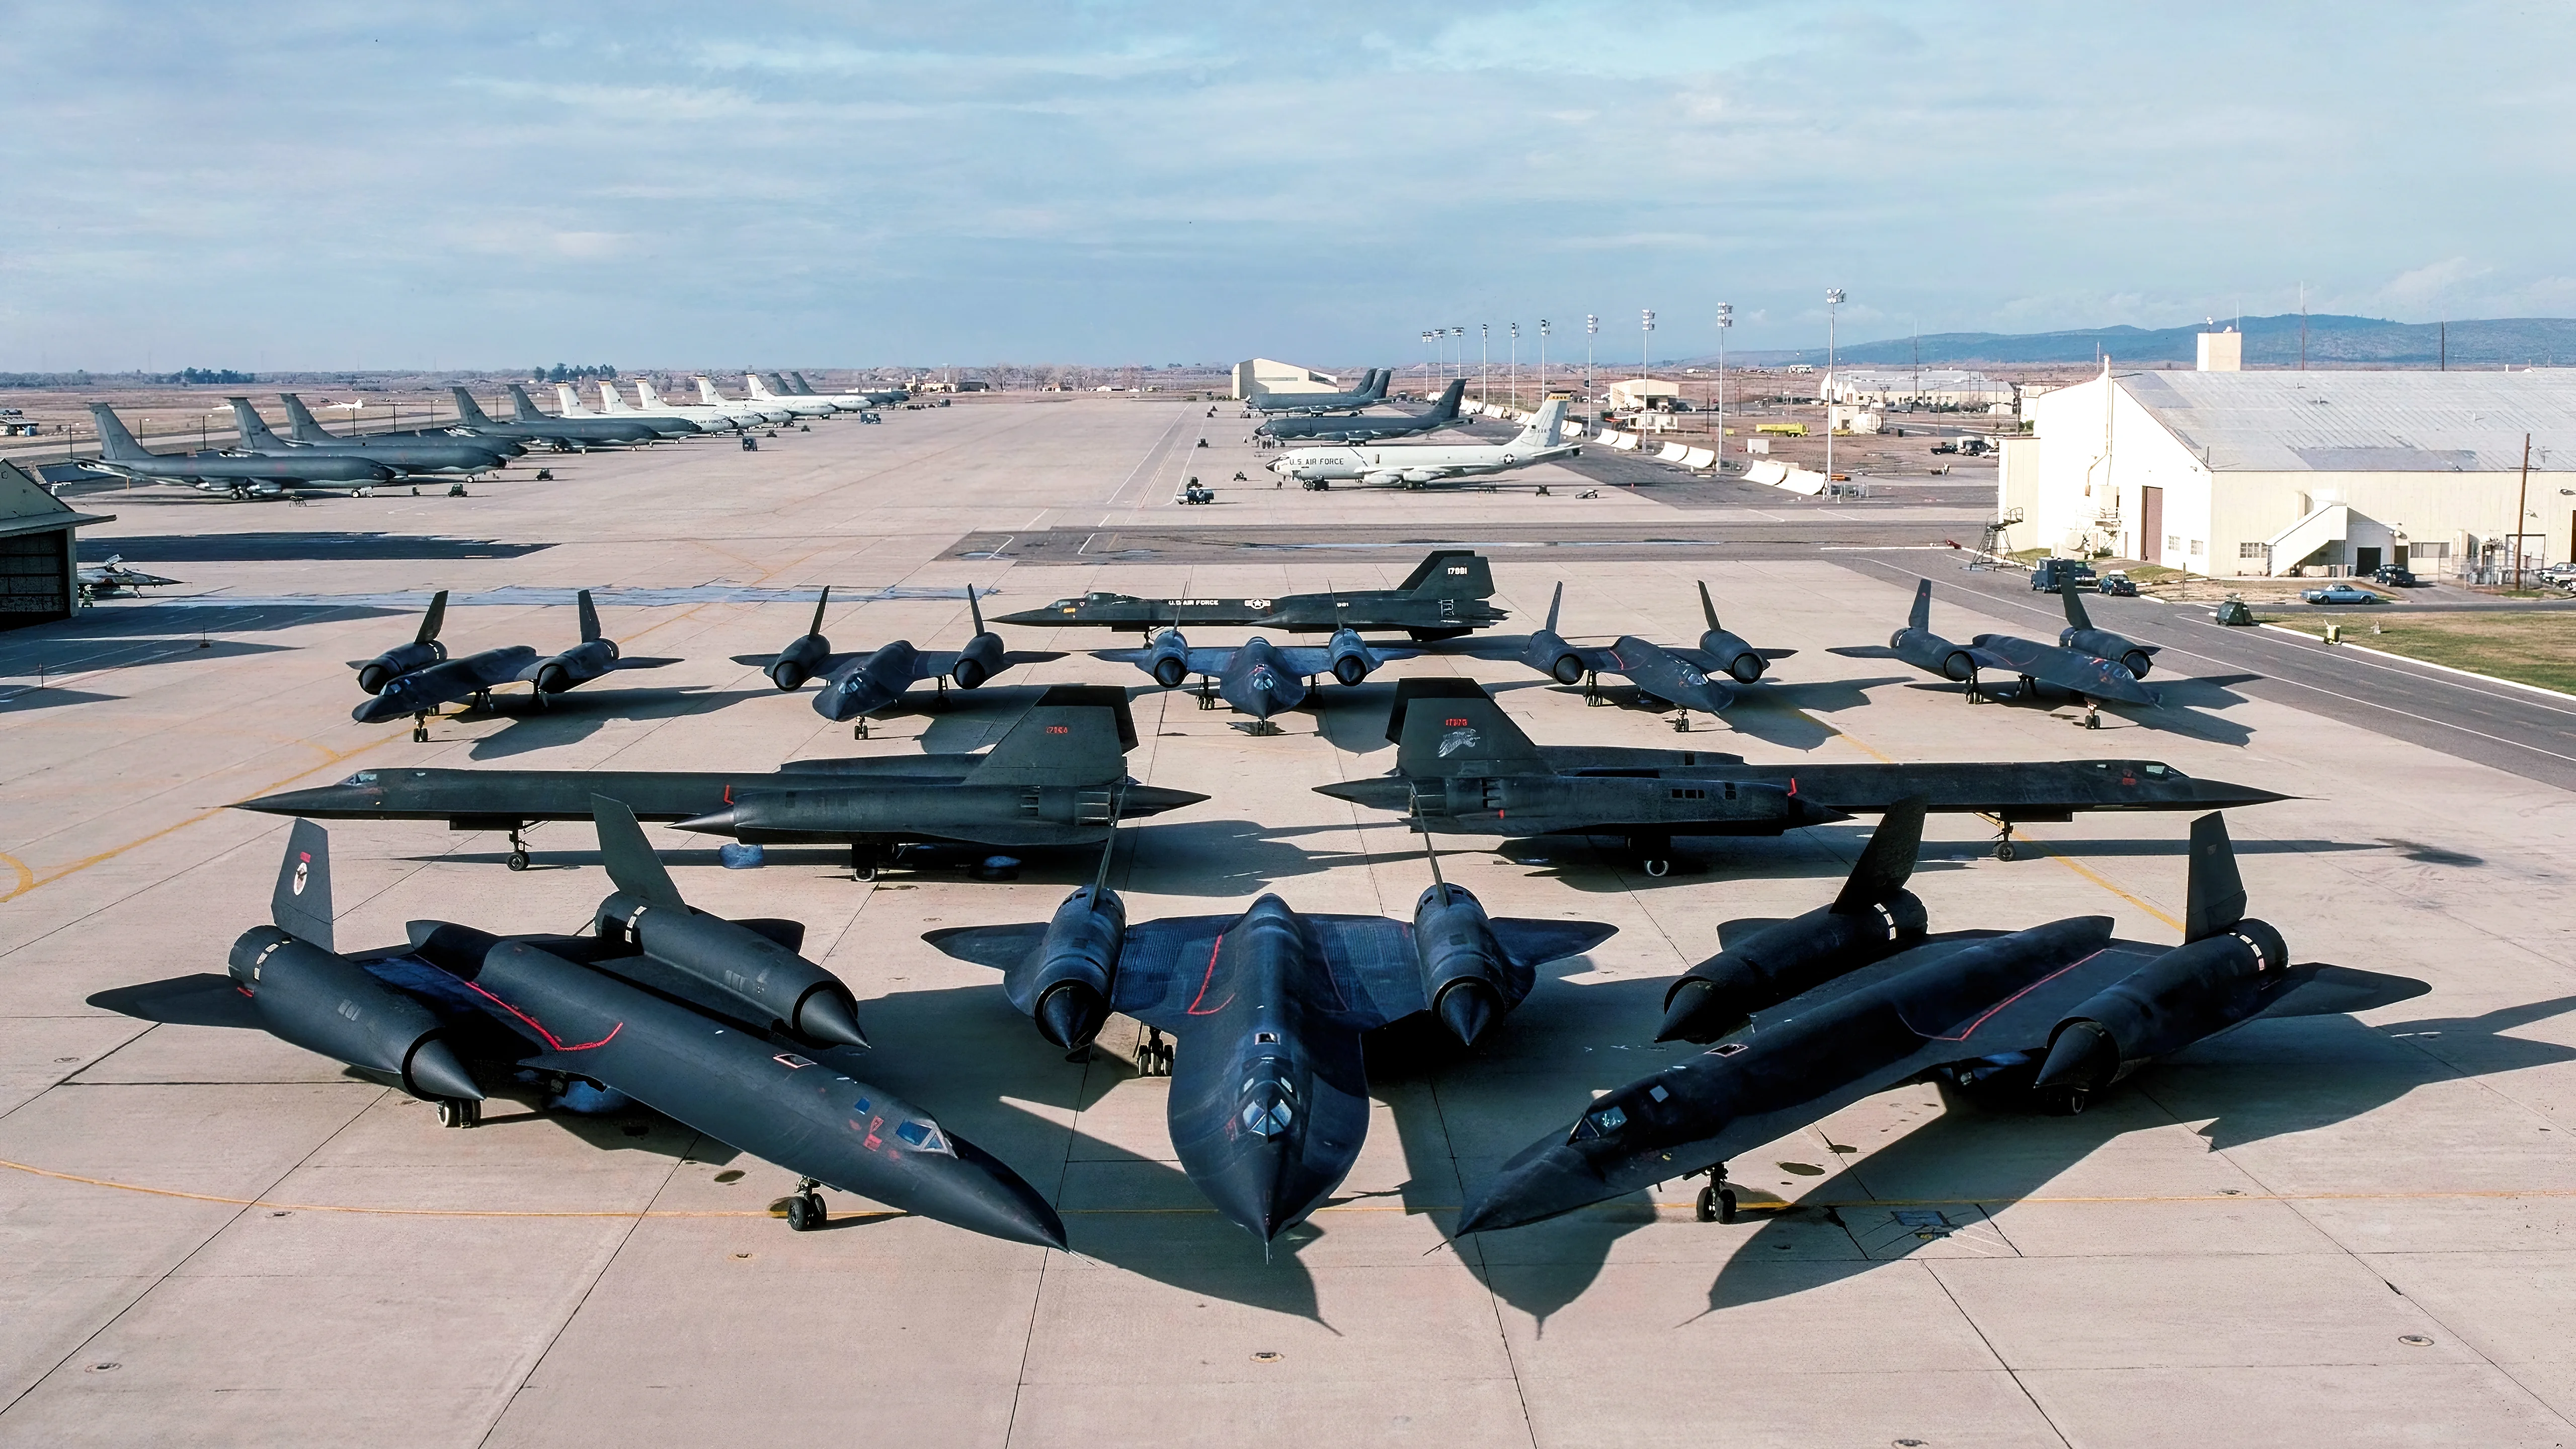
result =
[[[1656,993],[1664,987],[1662,980],[1638,985],[1651,985]],[[1638,1003],[1651,1018],[1649,1006]],[[2050,1181],[2115,1137],[2208,1122],[2197,1134],[2213,1152],[2223,1152],[2349,1122],[2421,1085],[2563,1065],[2576,1060],[2576,1047],[2509,1031],[2568,1011],[2576,1011],[2576,995],[2470,1018],[2383,1026],[2365,1026],[2349,1016],[2257,1021],[2146,1067],[2079,1116],[2045,1116],[2017,1101],[1989,1104],[1976,1093],[1945,1091],[1940,1116],[1850,1165],[1839,1165],[1832,1150],[1798,1147],[1788,1150],[1798,1158],[1814,1152],[1819,1160],[1736,1163],[1731,1176],[1744,1183],[1777,1183],[1783,1171],[1793,1178],[1816,1176],[1821,1181],[1801,1196],[1834,1207],[1749,1214],[1757,1227],[1710,1281],[1708,1310],[1798,1294],[1953,1238],[1968,1240],[1981,1253],[2017,1256],[2009,1220],[1999,1225],[1989,1214],[2027,1196],[2045,1196]],[[1824,1147],[1834,1142],[1824,1137]],[[2388,1191],[2406,1186],[2411,1183],[2391,1181]],[[2161,1191],[2187,1196],[2195,1183],[2177,1181]],[[1754,1194],[1747,1196],[1759,1201]],[[1875,1207],[1878,1201],[1886,1207]],[[1654,1217],[1646,1194],[1633,1194],[1595,1212],[1515,1230],[1510,1238],[1522,1232],[1548,1238],[1497,1243],[1492,1256],[1499,1261],[1486,1281],[1522,1312],[1546,1320],[1600,1276],[1618,1238]],[[1710,1232],[1741,1230],[1710,1227]],[[1476,1261],[1471,1256],[1471,1263]]]

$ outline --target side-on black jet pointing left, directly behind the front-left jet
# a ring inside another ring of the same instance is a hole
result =
[[[858,879],[876,879],[912,846],[1095,846],[1110,833],[1113,799],[1121,820],[1208,799],[1133,784],[1126,773],[1133,748],[1123,688],[1059,683],[976,755],[788,761],[775,771],[371,768],[340,784],[245,799],[237,810],[507,830],[510,869],[523,871],[528,825],[590,820],[598,792],[644,820],[701,835],[850,846]]]

